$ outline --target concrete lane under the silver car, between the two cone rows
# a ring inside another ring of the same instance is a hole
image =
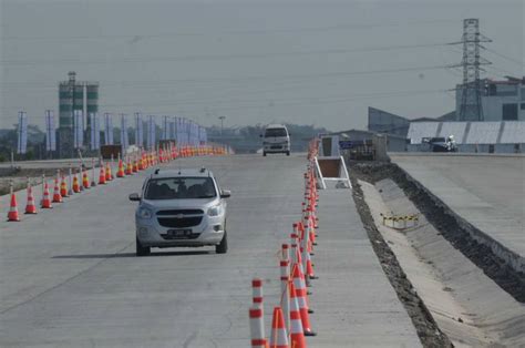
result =
[[[306,163],[238,155],[168,164],[209,167],[231,190],[226,255],[154,248],[135,257],[127,195],[144,173],[1,222],[0,346],[246,347],[251,278],[265,279],[268,308],[278,303],[277,252],[300,217]]]

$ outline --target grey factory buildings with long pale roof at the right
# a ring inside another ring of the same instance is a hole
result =
[[[459,152],[525,152],[525,76],[506,76],[501,81],[484,79],[483,85],[483,120],[461,120],[461,94],[464,89],[457,86],[455,111],[439,117],[409,120],[369,108],[368,131],[388,134],[392,139],[389,151],[400,151],[399,137],[405,140],[404,151],[425,151],[425,140],[452,135]]]

